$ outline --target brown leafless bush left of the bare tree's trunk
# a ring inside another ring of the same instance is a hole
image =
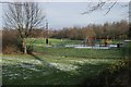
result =
[[[21,42],[17,30],[2,30],[2,53],[17,53],[21,51]]]

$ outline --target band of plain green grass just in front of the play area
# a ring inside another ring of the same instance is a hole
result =
[[[75,58],[122,58],[123,51],[120,49],[98,50],[98,49],[76,49],[76,48],[45,48],[34,47],[34,51],[41,51],[44,54],[57,57]]]

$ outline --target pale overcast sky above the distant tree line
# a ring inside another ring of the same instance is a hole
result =
[[[95,4],[95,2],[93,4]],[[128,4],[128,2],[117,3],[106,16],[106,10],[82,15],[81,13],[87,10],[88,2],[41,2],[40,8],[46,14],[49,27],[61,29],[63,27],[87,26],[88,24],[104,24],[105,22],[127,20],[128,8],[122,8],[121,4]],[[0,16],[2,16],[5,4],[0,4]],[[0,17],[0,27],[1,26],[2,18]]]

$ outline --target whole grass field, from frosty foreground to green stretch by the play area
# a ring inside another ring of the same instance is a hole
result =
[[[61,44],[58,39],[51,42]],[[41,39],[36,39],[34,54],[3,54],[3,85],[82,85],[111,66],[124,65],[121,62],[129,57],[129,47],[108,50],[47,48]]]

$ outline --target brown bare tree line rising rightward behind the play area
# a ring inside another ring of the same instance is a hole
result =
[[[69,38],[82,40],[88,37],[96,38],[114,38],[114,39],[128,39],[130,37],[129,23],[127,21],[104,23],[102,24],[90,24],[84,27],[64,27],[60,30],[53,30],[51,38]]]

